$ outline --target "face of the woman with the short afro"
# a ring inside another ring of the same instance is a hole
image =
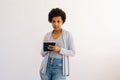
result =
[[[63,20],[62,20],[61,16],[56,16],[56,17],[52,18],[51,23],[52,23],[54,30],[60,30],[61,26],[63,24]]]

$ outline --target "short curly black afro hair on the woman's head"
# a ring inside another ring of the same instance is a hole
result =
[[[56,16],[61,16],[63,23],[66,20],[66,13],[60,8],[53,8],[48,14],[48,21],[51,23],[52,18]]]

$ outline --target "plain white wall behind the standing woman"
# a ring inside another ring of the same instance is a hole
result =
[[[48,12],[62,8],[76,56],[68,80],[120,80],[119,0],[0,0],[0,80],[40,80]]]

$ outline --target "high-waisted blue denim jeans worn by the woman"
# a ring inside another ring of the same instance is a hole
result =
[[[46,74],[40,73],[41,80],[66,80],[62,74],[62,59],[48,58]]]

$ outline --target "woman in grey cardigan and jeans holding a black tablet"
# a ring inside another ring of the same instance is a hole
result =
[[[55,46],[49,45],[50,51],[41,50],[44,57],[40,69],[41,80],[66,80],[69,76],[69,56],[75,55],[72,35],[62,29],[66,14],[60,8],[53,8],[48,20],[53,30],[45,35],[44,42],[54,41]]]

